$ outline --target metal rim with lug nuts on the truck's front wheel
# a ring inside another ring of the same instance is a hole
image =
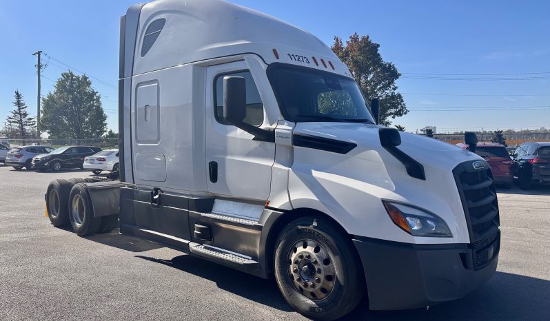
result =
[[[334,289],[336,271],[329,252],[314,240],[296,242],[288,254],[294,288],[310,300],[323,300]]]

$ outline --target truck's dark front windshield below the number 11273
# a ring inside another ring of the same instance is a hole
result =
[[[283,64],[273,65],[268,74],[288,121],[374,123],[352,79]]]

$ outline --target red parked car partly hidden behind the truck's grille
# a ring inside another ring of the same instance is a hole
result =
[[[458,147],[467,149],[468,145],[464,143],[456,144]],[[506,147],[499,143],[480,142],[476,145],[476,154],[485,158],[485,161],[491,165],[493,172],[493,181],[502,187],[510,188],[513,183],[512,164],[513,160]]]

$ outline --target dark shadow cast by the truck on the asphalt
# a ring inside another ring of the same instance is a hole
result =
[[[216,282],[220,289],[282,311],[293,311],[278,290],[275,280],[264,280],[216,265],[201,258],[182,255],[172,260],[136,256],[192,273]],[[548,320],[550,281],[512,273],[496,274],[465,298],[429,309],[370,311],[367,300],[342,320]]]

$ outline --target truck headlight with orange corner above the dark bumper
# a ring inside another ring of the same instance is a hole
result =
[[[391,220],[412,236],[453,237],[447,223],[436,214],[386,200],[383,200],[383,203]]]

